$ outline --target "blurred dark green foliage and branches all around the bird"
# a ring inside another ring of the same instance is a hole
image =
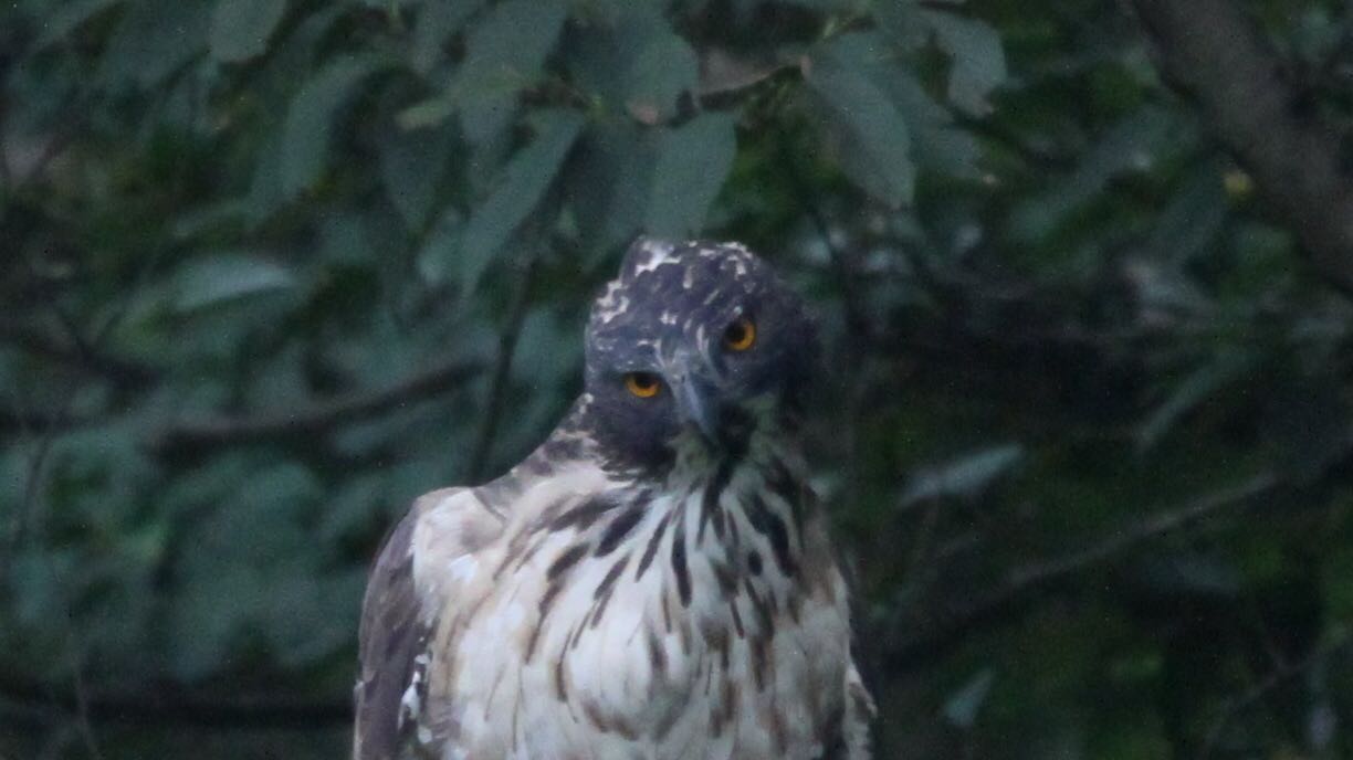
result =
[[[340,757],[641,231],[816,302],[881,757],[1353,756],[1333,0],[0,7],[0,756]]]

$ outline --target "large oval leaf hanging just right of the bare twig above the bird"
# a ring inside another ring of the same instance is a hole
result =
[[[827,110],[842,169],[865,192],[897,208],[912,199],[911,130],[888,95],[831,49],[812,57],[808,85]]]

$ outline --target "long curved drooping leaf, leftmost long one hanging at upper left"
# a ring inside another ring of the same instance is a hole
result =
[[[323,176],[334,123],[357,95],[363,80],[377,72],[371,58],[340,58],[307,81],[287,111],[281,127],[281,192],[294,197]],[[267,157],[265,160],[272,160]]]

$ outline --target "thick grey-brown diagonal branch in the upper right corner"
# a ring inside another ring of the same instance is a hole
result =
[[[1339,135],[1300,112],[1283,61],[1231,0],[1124,0],[1165,78],[1191,95],[1207,128],[1254,177],[1312,265],[1353,295],[1353,181]]]

